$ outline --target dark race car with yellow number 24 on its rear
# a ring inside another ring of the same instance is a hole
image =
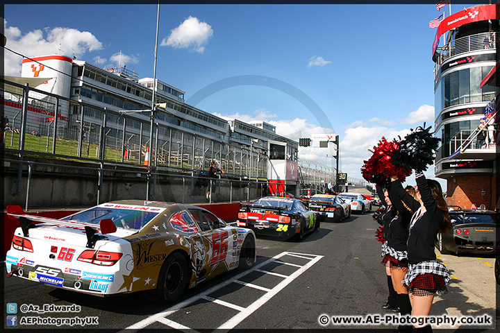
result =
[[[301,240],[305,234],[319,229],[315,212],[299,199],[267,196],[240,206],[238,226],[250,228],[256,234],[296,236]]]

